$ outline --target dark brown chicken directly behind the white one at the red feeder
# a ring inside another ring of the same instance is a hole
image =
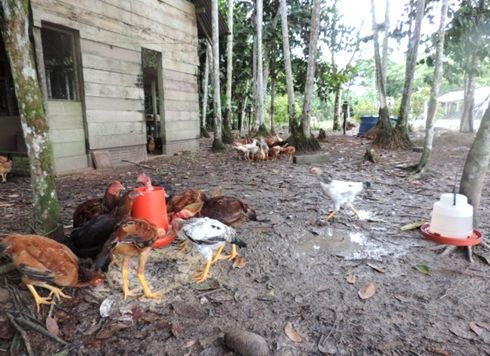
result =
[[[257,221],[255,210],[240,199],[226,195],[206,199],[202,204],[190,204],[178,212],[176,217],[182,219],[208,217],[233,227],[241,225],[245,221]],[[182,249],[186,248],[186,244],[183,244]],[[226,256],[229,260],[233,260],[237,256],[235,244],[232,244],[231,248],[231,253]]]

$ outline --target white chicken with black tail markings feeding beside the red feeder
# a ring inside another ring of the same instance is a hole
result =
[[[238,238],[234,228],[216,219],[191,218],[184,220],[175,217],[172,221],[172,228],[177,236],[189,240],[206,260],[204,268],[194,276],[197,283],[208,278],[209,268],[220,259],[221,252],[227,242],[239,247],[247,247],[246,243]]]

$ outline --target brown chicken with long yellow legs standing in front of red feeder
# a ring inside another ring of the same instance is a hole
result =
[[[122,256],[121,272],[124,299],[128,296],[134,296],[128,287],[129,263],[133,256],[138,256],[137,276],[143,287],[144,296],[151,299],[161,297],[160,294],[153,293],[150,290],[146,283],[144,272],[152,245],[163,234],[165,234],[164,229],[157,228],[144,219],[127,219],[121,223],[104,244],[95,260],[95,267],[103,268],[112,258],[112,255]]]

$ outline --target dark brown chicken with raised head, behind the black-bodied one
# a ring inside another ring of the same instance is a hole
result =
[[[89,199],[78,205],[73,212],[73,227],[79,227],[86,221],[112,211],[125,189],[120,181],[109,184],[102,198]]]

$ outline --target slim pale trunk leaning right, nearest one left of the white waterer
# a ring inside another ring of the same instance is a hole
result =
[[[422,156],[420,157],[420,162],[417,166],[417,173],[421,175],[425,173],[427,163],[429,163],[429,159],[432,153],[432,141],[434,139],[434,117],[437,109],[437,96],[439,95],[439,88],[442,79],[442,59],[444,57],[444,37],[448,6],[449,0],[443,0],[441,7],[441,20],[439,22],[439,29],[437,31],[434,77],[432,79],[432,86],[430,88],[429,107],[427,109],[427,117],[425,122],[424,150],[422,151]]]

